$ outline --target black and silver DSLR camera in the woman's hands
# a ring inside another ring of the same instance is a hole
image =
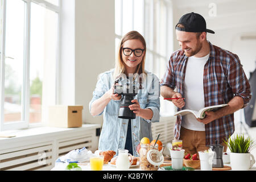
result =
[[[134,97],[138,94],[139,89],[141,89],[141,85],[137,86],[135,82],[132,84],[127,83],[126,85],[114,85],[114,93],[123,96],[119,105],[118,118],[136,118],[136,114],[133,113],[128,106],[134,104],[131,101],[134,100]]]

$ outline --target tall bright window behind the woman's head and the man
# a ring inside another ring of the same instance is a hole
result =
[[[136,30],[147,44],[145,69],[162,78],[173,51],[172,5],[168,0],[115,0],[115,50],[127,32]],[[175,106],[160,98],[160,115],[174,114]]]

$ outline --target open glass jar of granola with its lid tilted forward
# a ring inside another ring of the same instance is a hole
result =
[[[157,171],[164,160],[163,154],[150,144],[141,145],[139,156],[139,165],[144,171]]]

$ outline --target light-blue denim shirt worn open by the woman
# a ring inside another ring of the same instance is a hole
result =
[[[96,89],[93,92],[93,98],[89,103],[89,110],[91,110],[93,101],[102,97],[114,85],[113,72],[114,70],[112,69],[101,73],[98,77]],[[150,120],[138,116],[135,119],[131,119],[131,138],[134,155],[137,154],[136,147],[141,138],[147,137],[152,140],[151,122],[159,122],[159,78],[150,72],[146,73],[146,79],[142,81],[142,89],[139,90],[134,99],[139,101],[141,109],[149,108],[154,114]],[[125,85],[126,82],[127,78],[120,78],[118,84]],[[118,154],[118,148],[125,148],[129,120],[118,118],[119,103],[120,100],[111,100],[109,104],[106,105],[104,111],[102,111],[104,114],[104,123],[101,130],[98,150],[113,150]]]

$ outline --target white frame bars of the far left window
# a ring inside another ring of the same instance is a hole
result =
[[[44,8],[54,11],[57,13],[57,48],[56,48],[56,72],[55,78],[56,83],[58,80],[58,70],[57,66],[59,65],[59,36],[60,36],[60,7],[61,1],[59,1],[58,6],[53,5],[44,0],[20,0],[26,3],[26,12],[25,12],[25,21],[24,21],[24,53],[23,53],[23,83],[22,83],[22,102],[21,102],[21,119],[20,121],[12,121],[5,123],[5,112],[4,112],[4,103],[5,103],[5,43],[6,43],[6,1],[2,0],[2,45],[0,50],[1,63],[0,63],[0,131],[4,130],[16,130],[16,129],[25,129],[28,127],[38,127],[44,124],[44,121],[40,123],[29,123],[29,110],[30,110],[30,20],[31,20],[31,3],[36,3],[37,5],[43,6]],[[8,55],[7,55],[8,56]],[[56,84],[57,86],[57,84]],[[57,89],[55,89],[55,98],[57,98]],[[56,103],[56,100],[55,100]]]

